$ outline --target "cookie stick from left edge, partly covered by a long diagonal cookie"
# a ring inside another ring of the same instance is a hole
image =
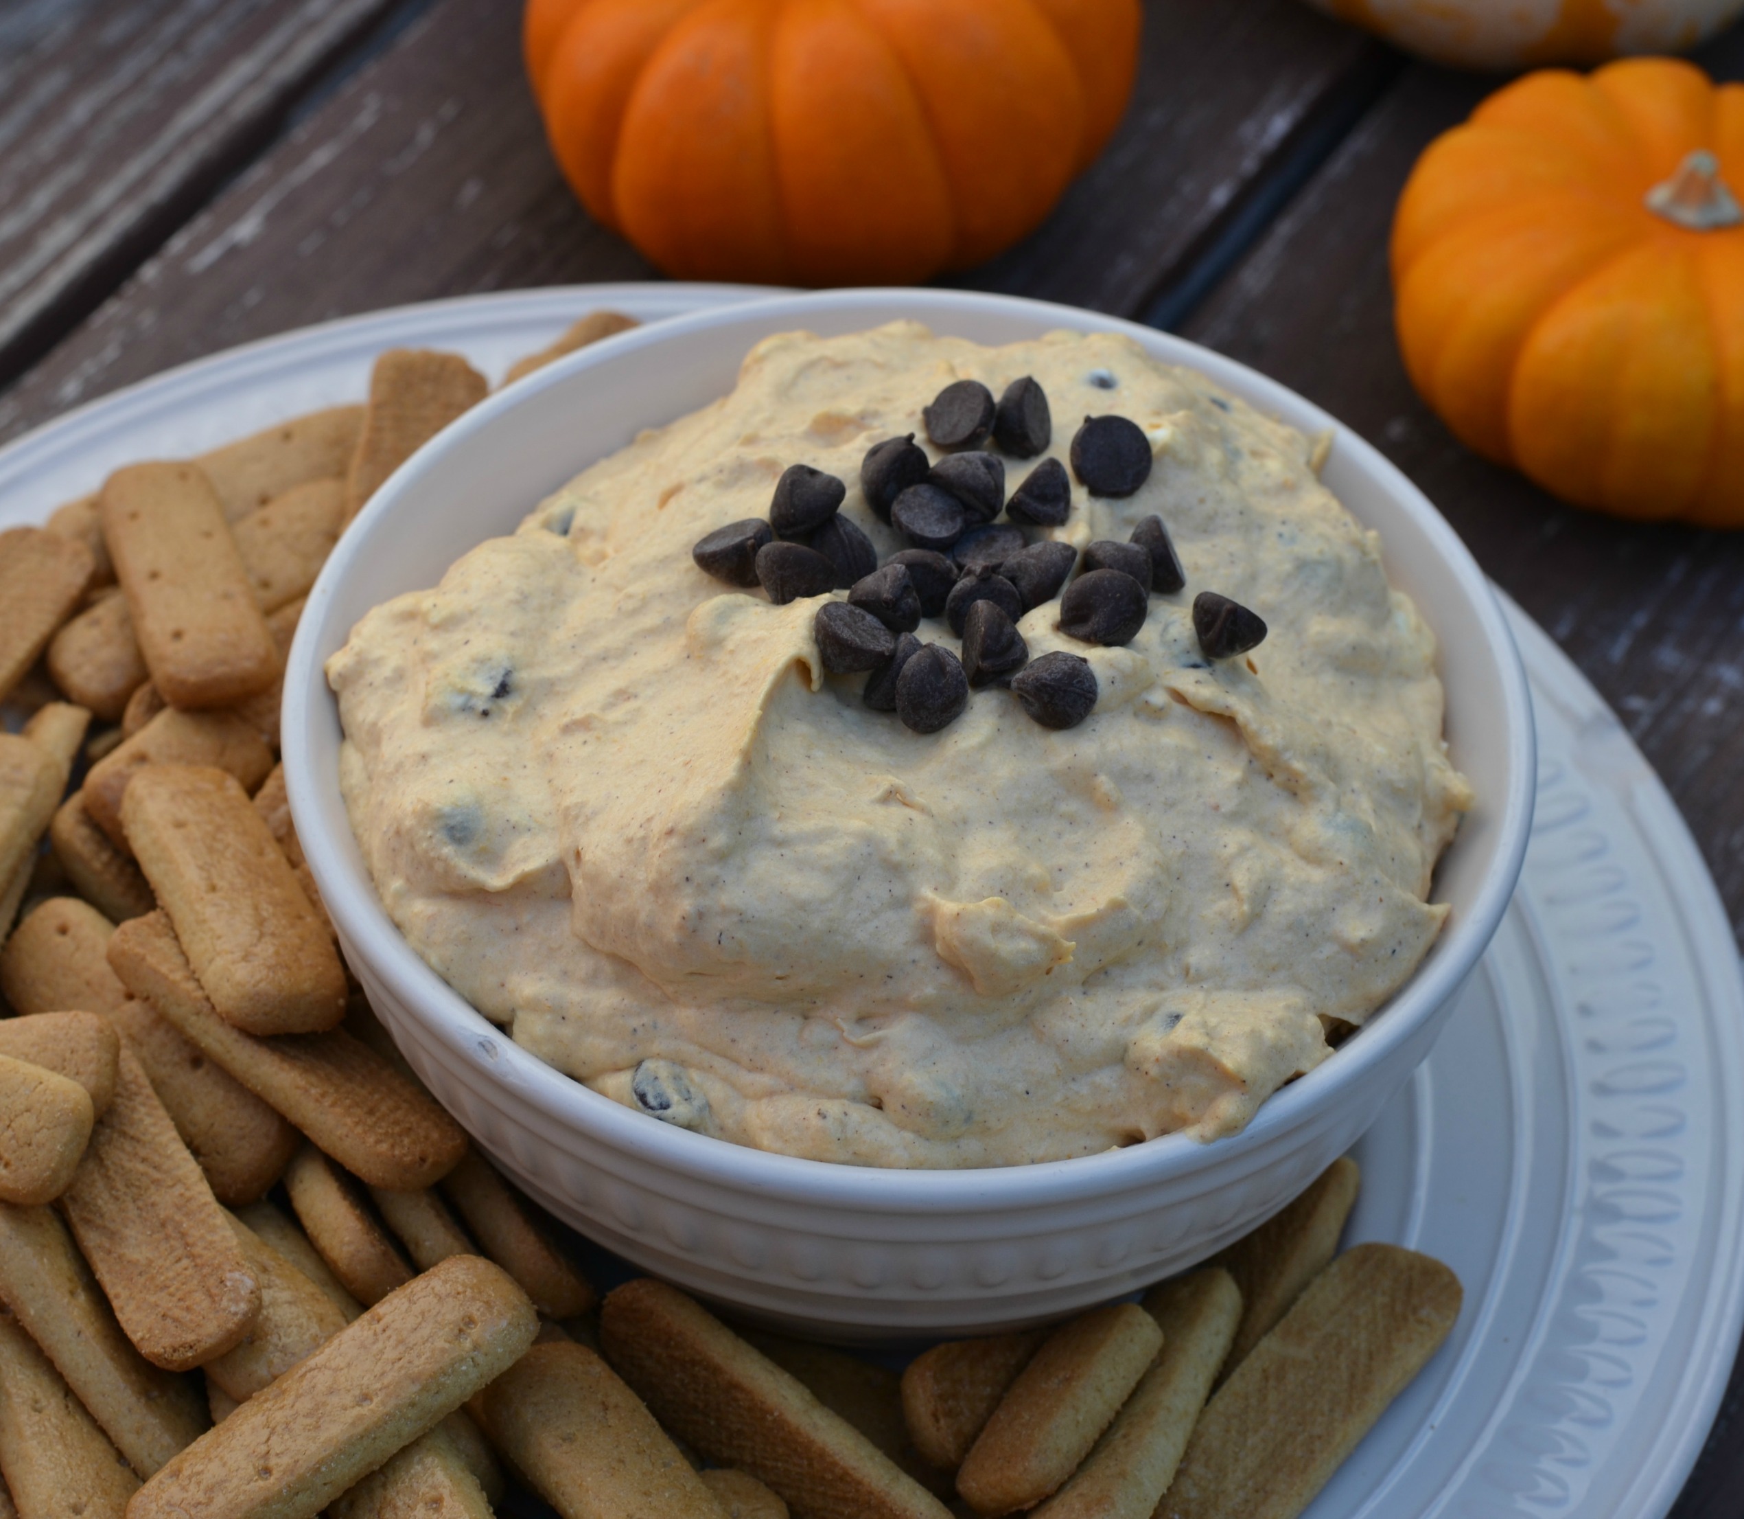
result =
[[[108,963],[113,931],[103,914],[77,898],[44,902],[0,950],[0,992],[21,1013],[103,1013],[140,1057],[213,1196],[227,1205],[253,1202],[279,1179],[302,1137],[127,992]]]

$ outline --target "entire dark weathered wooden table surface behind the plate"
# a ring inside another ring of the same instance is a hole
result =
[[[0,441],[324,317],[654,277],[544,148],[514,0],[0,7]],[[1744,77],[1744,30],[1699,61]],[[1221,349],[1383,448],[1617,708],[1744,924],[1744,535],[1570,511],[1406,382],[1386,228],[1496,85],[1299,0],[1151,0],[1127,119],[1017,249],[952,283]],[[44,509],[51,502],[42,504]],[[1676,1509],[1744,1516],[1744,1373]],[[1524,1510],[1523,1510],[1524,1512]]]

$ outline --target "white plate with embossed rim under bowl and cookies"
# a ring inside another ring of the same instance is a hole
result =
[[[492,377],[572,317],[764,291],[602,284],[326,323],[171,370],[0,450],[0,527],[119,464],[364,392],[385,347]],[[1353,1240],[1448,1261],[1448,1346],[1308,1510],[1660,1519],[1744,1322],[1744,980],[1671,797],[1578,670],[1509,609],[1542,755],[1519,893],[1434,1055],[1355,1149]]]

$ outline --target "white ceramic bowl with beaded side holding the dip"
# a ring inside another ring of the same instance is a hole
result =
[[[579,469],[726,394],[762,337],[917,317],[982,344],[1125,331],[1308,433],[1334,420],[1181,338],[1069,307],[924,289],[787,295],[584,349],[476,406],[382,487],[309,598],[284,680],[284,771],[345,956],[406,1059],[483,1149],[553,1214],[682,1287],[839,1339],[991,1331],[1184,1270],[1268,1217],[1339,1156],[1435,1043],[1514,891],[1533,797],[1519,654],[1489,584],[1423,495],[1338,429],[1325,483],[1380,530],[1386,569],[1441,638],[1448,739],[1477,788],[1437,874],[1453,916],[1373,1022],[1236,1137],[1167,1135],[998,1170],[872,1170],[766,1155],[621,1107],[525,1053],[399,937],[338,792],[323,663],[373,605],[434,584]]]

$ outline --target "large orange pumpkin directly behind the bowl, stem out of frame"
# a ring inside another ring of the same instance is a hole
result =
[[[1032,230],[1132,91],[1139,0],[528,0],[593,216],[670,274],[875,284]]]

